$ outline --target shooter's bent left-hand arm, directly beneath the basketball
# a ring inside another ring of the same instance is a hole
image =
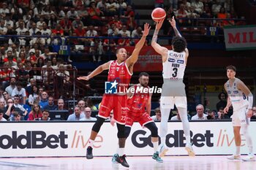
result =
[[[154,48],[154,50],[157,51],[157,53],[162,55],[162,60],[165,61],[167,58],[168,49],[166,47],[162,47],[157,43],[157,36],[160,28],[162,27],[162,23],[164,23],[164,20],[160,20],[159,22],[157,22],[156,28],[154,30],[153,38],[151,41],[151,46]]]

